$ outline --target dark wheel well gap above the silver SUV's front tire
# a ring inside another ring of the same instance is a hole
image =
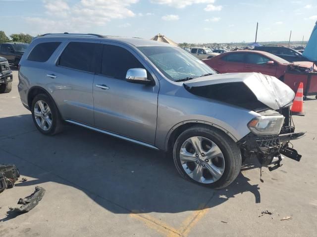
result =
[[[168,141],[167,141],[167,152],[171,152],[173,150],[174,143],[175,143],[176,139],[178,138],[178,136],[183,131],[185,131],[186,129],[193,127],[193,126],[211,127],[213,129],[218,130],[220,133],[226,134],[227,136],[229,136],[232,139],[232,137],[230,135],[228,135],[228,133],[224,132],[220,128],[217,128],[216,126],[212,126],[210,124],[206,124],[206,123],[202,123],[202,122],[188,122],[188,123],[184,123],[184,124],[178,126],[177,128],[175,128],[171,132],[171,134],[168,137]],[[234,139],[232,139],[232,140],[234,140]]]

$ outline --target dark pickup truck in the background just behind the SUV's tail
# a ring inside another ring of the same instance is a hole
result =
[[[28,43],[8,42],[0,44],[0,57],[6,58],[9,63],[18,66]]]

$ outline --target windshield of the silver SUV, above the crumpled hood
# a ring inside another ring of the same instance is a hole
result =
[[[139,46],[138,49],[166,78],[173,81],[216,74],[204,62],[179,47]]]

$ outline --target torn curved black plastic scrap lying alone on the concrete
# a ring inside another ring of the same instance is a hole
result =
[[[15,207],[15,208],[9,207],[9,209],[12,211],[21,212],[21,213],[29,212],[39,203],[39,201],[42,199],[44,194],[45,194],[45,189],[37,186],[35,187],[35,191],[33,192],[33,194],[31,194],[28,197],[19,199],[17,204],[22,204],[22,206]]]

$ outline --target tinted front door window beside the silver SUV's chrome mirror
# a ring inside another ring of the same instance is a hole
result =
[[[101,74],[125,79],[131,68],[144,68],[140,61],[125,48],[104,44]]]

